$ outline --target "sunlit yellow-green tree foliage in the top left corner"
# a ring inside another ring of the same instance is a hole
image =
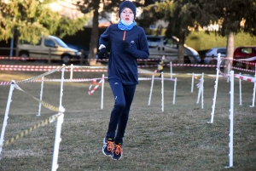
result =
[[[55,0],[12,0],[0,2],[0,40],[8,41],[13,37],[12,30],[20,40],[38,43],[42,35],[72,35],[83,28],[86,16],[74,20],[68,19],[50,9]]]

